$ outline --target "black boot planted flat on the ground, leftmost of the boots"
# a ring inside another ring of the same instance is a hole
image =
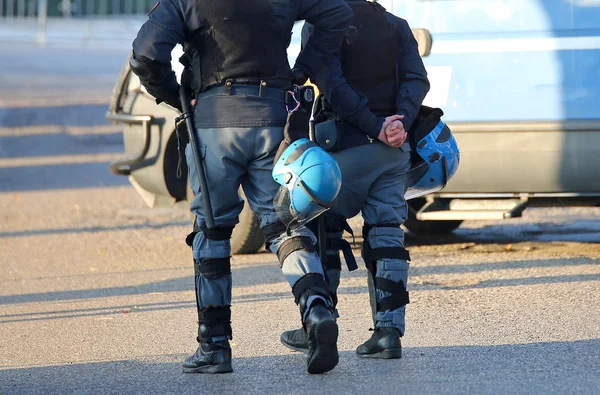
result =
[[[194,355],[183,363],[184,373],[229,373],[231,367],[231,347],[229,340],[201,342]]]

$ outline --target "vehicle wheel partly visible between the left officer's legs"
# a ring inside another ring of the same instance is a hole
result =
[[[240,196],[245,198],[244,192],[240,188]],[[187,187],[188,202],[194,197],[192,190]],[[192,221],[194,216],[192,215]],[[265,243],[265,236],[260,229],[260,221],[248,203],[244,204],[244,208],[240,213],[240,223],[233,229],[231,235],[231,253],[232,254],[254,254]]]

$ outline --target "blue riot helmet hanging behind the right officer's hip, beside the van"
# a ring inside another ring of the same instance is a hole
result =
[[[452,178],[460,161],[452,131],[441,120],[442,110],[422,107],[421,119],[411,128],[412,166],[406,174],[404,197],[414,199],[441,190]]]

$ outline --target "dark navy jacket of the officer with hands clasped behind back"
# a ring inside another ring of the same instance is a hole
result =
[[[377,139],[385,117],[399,114],[410,129],[429,81],[408,23],[374,2],[346,0],[354,21],[337,56],[315,77],[321,92],[318,118],[335,119],[335,149]],[[305,25],[302,42],[312,37]]]

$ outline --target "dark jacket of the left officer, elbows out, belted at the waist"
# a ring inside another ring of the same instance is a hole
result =
[[[186,79],[199,92],[197,127],[284,126],[286,105],[278,92],[291,85],[286,48],[298,20],[315,30],[294,67],[314,78],[352,21],[343,0],[160,0],[133,42],[130,63],[157,102],[176,105],[171,52],[177,44],[194,48],[196,55],[186,52],[183,62],[193,66]],[[246,80],[256,92],[236,93],[234,86],[223,94],[227,79]]]

